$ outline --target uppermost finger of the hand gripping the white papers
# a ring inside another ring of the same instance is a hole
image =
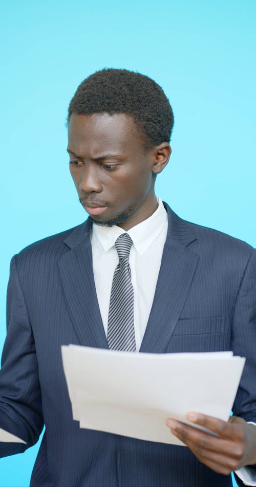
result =
[[[207,416],[201,413],[188,413],[187,419],[192,423],[203,426],[206,429],[216,433],[221,438],[243,439],[244,432],[240,424],[232,421],[223,421],[219,418]]]

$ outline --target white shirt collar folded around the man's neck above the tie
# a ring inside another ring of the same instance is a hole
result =
[[[158,237],[167,222],[167,213],[159,196],[157,196],[157,201],[158,207],[153,215],[127,230],[127,232],[116,225],[113,225],[113,227],[101,227],[93,223],[93,235],[100,241],[104,251],[108,252],[122,233],[129,233],[135,249],[139,254],[143,254]]]

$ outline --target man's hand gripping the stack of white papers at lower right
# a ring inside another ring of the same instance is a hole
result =
[[[203,426],[218,437],[169,418],[166,421],[173,435],[185,443],[200,462],[223,475],[245,465],[256,463],[256,426],[242,418],[230,416],[222,421],[199,413],[188,413],[190,422]]]

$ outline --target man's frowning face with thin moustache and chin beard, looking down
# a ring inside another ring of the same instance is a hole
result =
[[[72,114],[70,172],[81,204],[96,223],[128,230],[156,210],[155,151],[145,152],[143,142],[128,115]]]

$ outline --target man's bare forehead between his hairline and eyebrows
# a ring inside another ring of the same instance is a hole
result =
[[[143,146],[143,137],[133,117],[125,114],[72,114],[69,122],[69,148],[76,154],[86,151],[126,152]]]

